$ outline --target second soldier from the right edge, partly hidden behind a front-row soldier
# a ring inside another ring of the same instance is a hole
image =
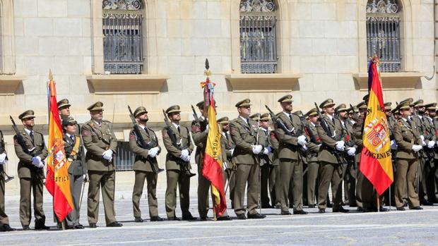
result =
[[[418,197],[420,199],[420,204],[431,206],[432,202],[429,202],[428,196],[430,195],[430,191],[427,190],[427,176],[430,172],[430,160],[427,157],[427,144],[429,141],[432,141],[434,136],[430,133],[430,129],[426,128],[425,125],[425,104],[422,99],[419,99],[417,102],[414,102],[414,116],[413,121],[415,121],[415,125],[417,125],[417,130],[420,133],[421,145],[423,149],[421,149],[418,154],[418,173],[419,173],[419,187],[418,187]],[[434,142],[433,142],[434,144]]]

